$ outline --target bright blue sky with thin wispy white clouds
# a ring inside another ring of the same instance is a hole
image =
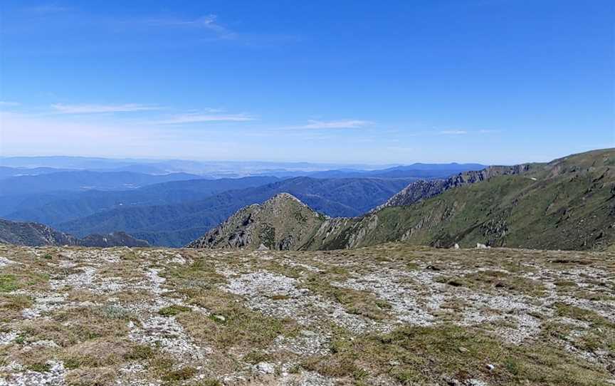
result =
[[[615,146],[613,1],[3,1],[0,152],[515,163]]]

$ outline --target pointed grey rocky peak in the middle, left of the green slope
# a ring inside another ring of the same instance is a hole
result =
[[[280,193],[240,209],[188,247],[300,249],[325,219],[293,195]]]

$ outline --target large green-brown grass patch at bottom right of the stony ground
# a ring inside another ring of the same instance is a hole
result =
[[[515,346],[478,330],[456,325],[404,326],[389,334],[352,335],[338,331],[332,354],[305,360],[307,370],[362,380],[388,375],[402,385],[431,384],[442,374],[460,382],[489,385],[600,385],[609,375],[547,345]],[[488,365],[493,365],[490,370]]]

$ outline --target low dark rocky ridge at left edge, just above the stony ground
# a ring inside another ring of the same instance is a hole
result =
[[[0,243],[25,246],[149,246],[125,232],[90,234],[78,239],[44,224],[0,219]]]

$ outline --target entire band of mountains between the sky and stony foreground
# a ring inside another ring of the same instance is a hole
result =
[[[41,187],[75,173],[43,168],[0,179],[3,192],[28,192],[0,195],[0,216],[7,219],[0,223],[0,242],[317,250],[404,241],[613,249],[615,150],[478,170],[458,165],[461,172],[446,174],[453,165],[425,165],[424,179],[340,177],[352,169],[286,179],[148,175],[144,186],[124,190],[120,176],[135,181],[135,173],[78,171],[75,181],[103,174],[94,179],[109,189],[85,191],[79,184],[65,184],[67,191]],[[359,174],[391,176],[404,168]],[[56,174],[61,178],[54,180]],[[32,178],[36,183],[28,183]],[[149,183],[159,179],[172,180]]]

